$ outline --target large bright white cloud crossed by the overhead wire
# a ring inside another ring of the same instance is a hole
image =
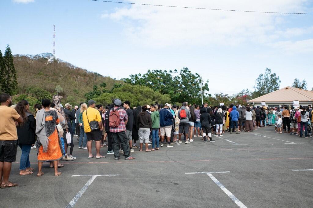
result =
[[[131,0],[147,3],[146,0]],[[243,1],[189,1],[159,0],[157,4],[186,7],[221,8],[270,12],[301,12],[305,0]],[[250,12],[226,12],[201,9],[185,9],[131,5],[119,7],[115,12],[104,13],[102,18],[121,22],[125,35],[134,42],[149,47],[178,45],[239,45],[247,42],[273,43],[279,37],[294,37],[308,34],[312,28],[290,28],[278,31],[288,15]]]

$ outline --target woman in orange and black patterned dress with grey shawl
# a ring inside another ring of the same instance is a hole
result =
[[[56,111],[51,111],[50,100],[42,101],[43,109],[36,114],[36,134],[37,134],[37,159],[38,174],[44,175],[41,171],[43,162],[53,161],[54,175],[59,176],[58,161],[63,157],[63,147],[59,138],[56,125],[59,124],[59,117]]]

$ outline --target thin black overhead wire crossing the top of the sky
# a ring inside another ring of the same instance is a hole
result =
[[[141,4],[141,3],[130,3],[130,2],[114,2],[114,1],[103,1],[103,0],[89,0],[94,2],[110,2],[110,3],[120,3],[120,4],[136,4],[136,5],[146,5],[146,6],[156,6],[156,7],[176,7],[176,8],[186,8],[186,9],[206,9],[206,10],[219,10],[228,12],[256,12],[256,13],[272,13],[272,14],[313,14],[313,13],[294,13],[294,12],[262,12],[262,11],[245,11],[245,10],[231,10],[231,9],[212,9],[212,8],[201,8],[201,7],[181,7],[181,6],[169,6],[169,5],[157,5],[157,4]]]

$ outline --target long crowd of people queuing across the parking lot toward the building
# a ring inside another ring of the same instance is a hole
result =
[[[120,160],[120,153],[125,160],[134,160],[131,152],[136,148],[151,152],[164,146],[174,147],[176,142],[190,144],[198,137],[203,142],[214,142],[212,133],[223,136],[225,132],[239,134],[241,131],[258,130],[267,126],[270,114],[274,115],[277,133],[282,133],[282,129],[286,133],[288,127],[290,134],[300,133],[302,137],[305,131],[307,138],[312,119],[311,106],[292,109],[284,106],[280,109],[249,104],[208,106],[208,103],[204,103],[199,106],[183,102],[182,106],[155,103],[131,107],[129,101],[122,102],[116,98],[105,107],[89,100],[71,110],[72,105],[66,103],[62,106],[61,97],[54,95],[52,101],[44,99],[41,104],[36,104],[33,114],[26,100],[12,106],[11,96],[3,93],[0,102],[1,188],[18,185],[9,181],[17,146],[22,151],[19,167],[21,176],[33,174],[34,168],[29,161],[32,148],[37,151],[37,176],[44,175],[43,162],[49,162],[49,167],[54,168],[54,176],[59,176],[61,172],[58,168],[64,167],[60,161],[76,159],[73,156],[74,136],[77,136],[78,148],[88,150],[88,159],[105,158],[100,149],[107,146],[106,153],[114,155],[115,160]],[[92,154],[93,141],[95,155]]]

